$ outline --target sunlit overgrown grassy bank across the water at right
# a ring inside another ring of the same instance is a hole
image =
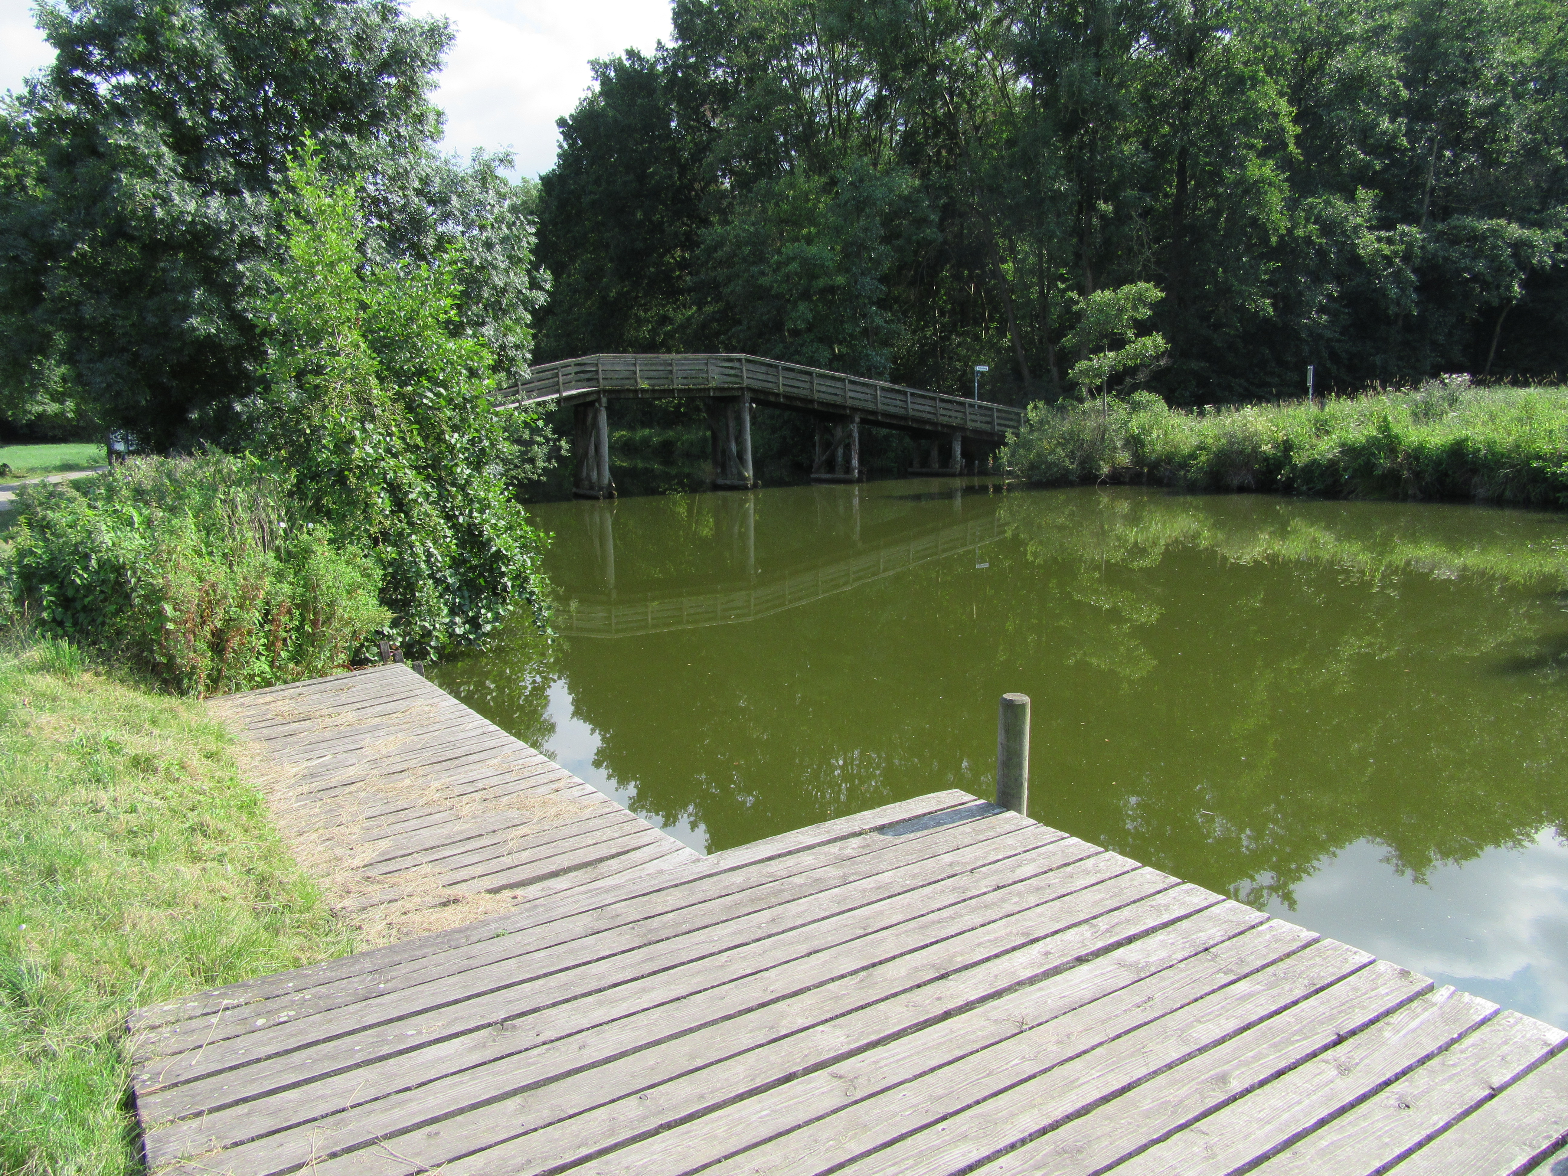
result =
[[[1005,450],[1043,485],[1568,505],[1568,387],[1469,387],[1170,409],[1151,394],[1036,405]]]

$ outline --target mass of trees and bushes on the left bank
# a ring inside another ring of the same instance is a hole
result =
[[[0,419],[199,456],[33,494],[16,607],[204,693],[376,638],[439,655],[538,604],[516,499],[547,439],[491,406],[547,284],[536,190],[510,157],[439,154],[445,20],[299,0],[39,22],[55,63],[0,103]]]

